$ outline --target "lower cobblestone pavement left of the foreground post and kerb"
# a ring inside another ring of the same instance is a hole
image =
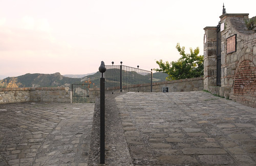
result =
[[[0,104],[0,165],[87,165],[94,103]]]

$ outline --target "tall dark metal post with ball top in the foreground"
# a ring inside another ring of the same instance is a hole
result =
[[[101,61],[99,66],[100,78],[100,163],[105,163],[105,63]]]

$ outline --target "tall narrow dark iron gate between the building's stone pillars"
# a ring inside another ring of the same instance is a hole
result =
[[[221,22],[217,26],[217,85],[221,85]]]

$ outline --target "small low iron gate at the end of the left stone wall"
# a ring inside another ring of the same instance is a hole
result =
[[[72,103],[89,103],[90,84],[72,84]]]

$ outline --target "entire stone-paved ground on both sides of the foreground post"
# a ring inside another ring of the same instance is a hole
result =
[[[108,94],[105,111],[105,165],[256,165],[255,108],[204,91],[127,92]],[[0,165],[99,165],[98,121],[98,100],[1,104]]]

